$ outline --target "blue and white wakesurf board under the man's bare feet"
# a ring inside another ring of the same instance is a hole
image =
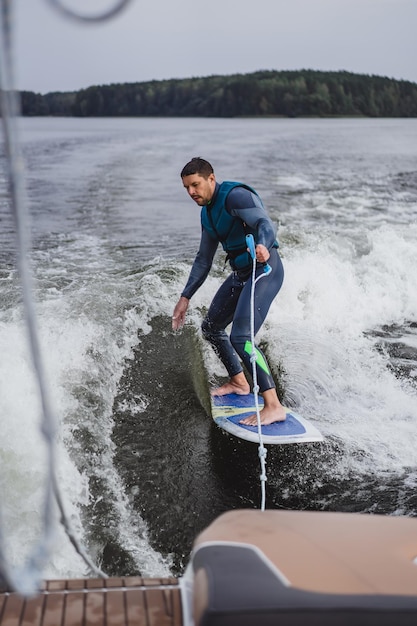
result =
[[[263,407],[263,399],[258,398],[259,410]],[[256,413],[255,396],[250,393],[240,396],[230,393],[225,396],[211,396],[211,412],[217,426],[226,432],[259,443],[258,426],[246,426],[239,421],[248,415]],[[286,408],[287,417],[284,422],[274,422],[262,426],[262,441],[264,444],[307,443],[323,441],[321,432],[292,409]]]

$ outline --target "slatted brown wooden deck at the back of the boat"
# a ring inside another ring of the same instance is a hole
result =
[[[175,578],[52,580],[33,598],[0,594],[1,626],[181,626]]]

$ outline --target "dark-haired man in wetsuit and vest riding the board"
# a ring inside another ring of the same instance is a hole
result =
[[[201,328],[203,336],[213,345],[226,367],[230,379],[213,390],[212,394],[246,395],[250,392],[250,387],[240,359],[252,372],[253,354],[250,333],[253,260],[247,249],[246,235],[254,236],[256,275],[264,271],[263,264],[266,262],[272,268],[271,273],[259,280],[255,287],[256,334],[284,278],[274,227],[257,193],[243,183],[217,183],[208,161],[200,157],[193,158],[184,166],[181,178],[188,194],[202,207],[202,232],[200,248],[190,276],[174,309],[172,328],[178,330],[184,325],[190,298],[207,278],[220,242],[233,271],[214,296]],[[225,329],[230,323],[232,328],[229,337]],[[265,356],[256,347],[255,353],[257,381],[264,399],[264,408],[260,412],[261,423],[283,421],[285,409],[278,399]],[[256,426],[257,416],[250,415],[241,421],[243,424]]]

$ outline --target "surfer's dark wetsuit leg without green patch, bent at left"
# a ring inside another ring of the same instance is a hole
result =
[[[233,272],[221,285],[201,325],[203,336],[209,341],[227,369],[229,376],[243,371],[225,328],[232,322],[245,283]]]

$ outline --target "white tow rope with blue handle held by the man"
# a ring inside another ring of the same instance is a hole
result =
[[[261,511],[265,511],[265,492],[266,492],[266,448],[263,443],[262,437],[262,424],[261,424],[261,414],[259,411],[259,386],[258,386],[258,375],[256,372],[256,349],[255,349],[255,285],[261,278],[268,276],[271,272],[271,268],[268,264],[264,267],[264,272],[259,274],[258,278],[256,278],[256,254],[255,254],[255,243],[253,239],[253,235],[246,236],[246,242],[248,244],[248,248],[252,257],[252,284],[251,284],[251,295],[250,295],[250,340],[252,346],[251,352],[251,364],[252,364],[252,378],[253,378],[253,395],[255,397],[255,407],[256,407],[256,420],[258,426],[258,436],[259,436],[259,448],[258,448],[258,456],[259,462],[261,466]]]

